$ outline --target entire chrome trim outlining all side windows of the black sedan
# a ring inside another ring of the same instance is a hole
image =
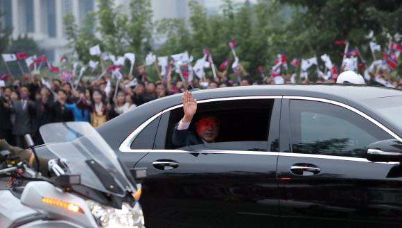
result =
[[[340,103],[338,101],[335,100],[328,100],[328,99],[324,99],[324,98],[315,98],[315,97],[308,97],[308,96],[233,96],[233,97],[226,97],[226,98],[212,98],[212,99],[205,99],[205,100],[197,100],[197,103],[208,103],[208,102],[215,102],[215,101],[224,101],[224,100],[250,100],[250,99],[292,99],[292,100],[313,100],[313,101],[319,101],[319,102],[323,102],[323,103],[330,103],[333,105],[338,105],[340,107],[344,107],[346,109],[351,110],[352,112],[355,112],[356,114],[359,114],[360,116],[364,117],[365,119],[367,119],[368,121],[374,123],[375,125],[377,125],[379,128],[383,129],[385,132],[387,132],[388,134],[390,134],[392,137],[394,137],[395,139],[398,139],[399,141],[402,141],[401,137],[399,137],[398,135],[396,135],[394,132],[392,132],[391,130],[389,130],[388,128],[386,128],[383,124],[379,123],[378,121],[376,121],[375,119],[373,119],[372,117],[368,116],[367,114],[359,111],[358,109],[351,107],[349,105],[345,105],[344,103]],[[150,119],[148,119],[147,121],[145,121],[144,123],[142,123],[141,125],[139,125],[138,128],[136,128],[133,132],[131,132],[131,134],[128,135],[128,137],[125,138],[125,140],[123,141],[123,143],[121,143],[119,150],[121,152],[150,152],[151,149],[147,149],[147,150],[132,150],[130,148],[132,142],[134,141],[134,139],[138,136],[138,134],[144,129],[146,128],[146,126],[151,123],[152,121],[154,121],[155,119],[157,119],[157,117],[161,116],[161,114],[164,114],[166,112],[169,112],[173,109],[179,108],[179,107],[183,107],[183,104],[180,105],[175,105],[173,107],[169,107],[167,109],[164,109],[161,112],[158,112],[157,114],[155,114],[154,116],[150,117]],[[157,151],[164,151],[164,152],[173,152],[173,151],[177,151],[177,150],[157,150]],[[182,150],[183,151],[183,150]],[[216,150],[218,153],[218,150]],[[225,151],[225,150],[222,150]],[[232,151],[232,150],[231,150]],[[153,150],[152,150],[153,152]],[[184,151],[184,152],[188,152],[188,151]],[[221,153],[234,153],[234,152],[221,152]],[[263,154],[263,153],[267,153],[267,152],[254,152],[251,153],[250,151],[245,151],[244,154],[254,154],[254,155],[259,155],[259,154]],[[287,153],[285,153],[287,154]],[[302,154],[302,155],[306,155],[306,154]],[[333,155],[316,155],[316,156],[331,156],[331,157],[340,157],[340,156],[333,156]],[[344,158],[344,157],[343,157]],[[367,159],[363,159],[367,162],[372,162],[372,161],[368,161]]]

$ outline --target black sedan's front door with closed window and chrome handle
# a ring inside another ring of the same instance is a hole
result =
[[[365,159],[369,143],[394,137],[340,105],[283,100],[278,159],[283,227],[400,227],[402,173],[391,170],[399,166]]]

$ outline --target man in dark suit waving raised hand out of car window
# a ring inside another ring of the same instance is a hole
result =
[[[172,143],[175,147],[191,146],[203,143],[213,143],[218,137],[220,121],[216,116],[203,116],[195,123],[197,134],[189,132],[189,125],[197,111],[197,99],[193,100],[191,92],[184,92],[183,119],[175,125],[173,130]]]

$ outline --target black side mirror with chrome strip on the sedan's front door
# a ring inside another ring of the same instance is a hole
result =
[[[377,162],[402,161],[402,142],[388,139],[371,143],[366,149],[366,159]]]

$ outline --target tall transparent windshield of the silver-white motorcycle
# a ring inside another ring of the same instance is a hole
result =
[[[40,128],[40,134],[53,154],[67,159],[71,173],[81,176],[82,185],[120,197],[125,195],[125,191],[136,191],[125,176],[112,148],[89,123],[50,123]],[[96,175],[87,164],[87,160],[94,160],[103,166],[118,186],[113,191],[105,186],[99,174]]]

